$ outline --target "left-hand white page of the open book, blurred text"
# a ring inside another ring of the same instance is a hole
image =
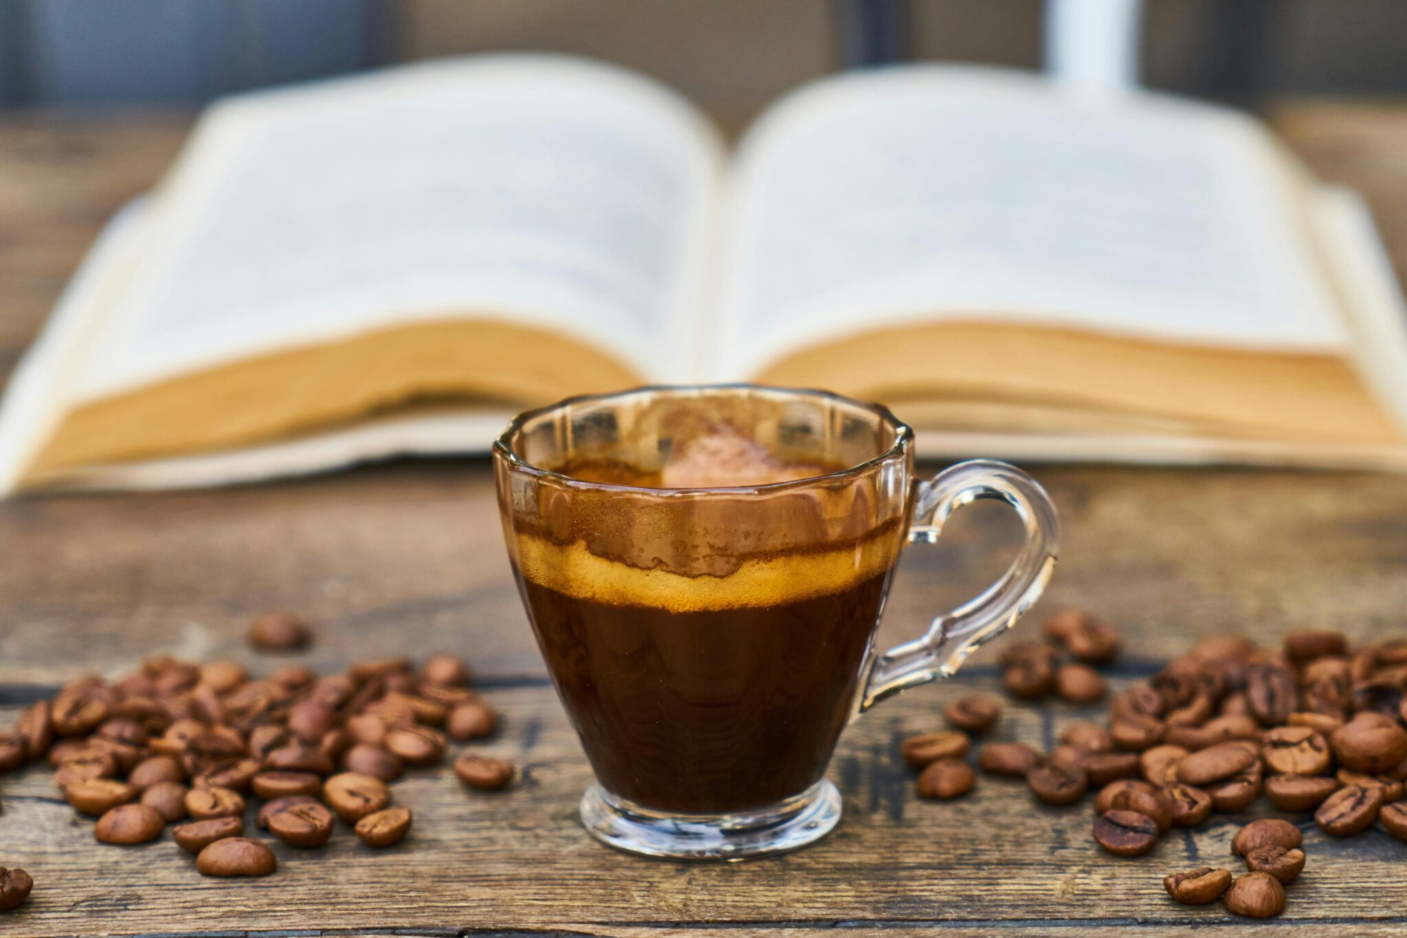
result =
[[[663,87],[553,56],[217,104],[79,399],[457,316],[549,326],[642,375],[684,360],[722,145]]]

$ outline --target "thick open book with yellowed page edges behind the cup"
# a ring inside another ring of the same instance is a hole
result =
[[[930,456],[1407,468],[1366,212],[1251,118],[915,65],[729,156],[647,79],[515,55],[212,107],[13,380],[0,487],[484,451],[737,380],[882,399]]]

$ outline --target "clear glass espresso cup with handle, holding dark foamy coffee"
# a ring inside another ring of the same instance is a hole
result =
[[[581,820],[636,854],[740,859],[825,835],[846,724],[951,675],[1055,563],[1055,510],[1030,477],[971,461],[919,481],[908,426],[822,391],[571,398],[518,416],[494,474],[528,617],[595,772]],[[978,498],[1026,525],[1010,570],[875,654],[899,551]]]

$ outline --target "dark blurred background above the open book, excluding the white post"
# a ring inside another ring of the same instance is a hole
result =
[[[180,107],[401,60],[552,49],[746,118],[850,65],[1040,68],[1043,15],[1043,0],[0,0],[0,107]],[[1254,107],[1407,91],[1404,51],[1404,0],[1148,0],[1141,72]]]

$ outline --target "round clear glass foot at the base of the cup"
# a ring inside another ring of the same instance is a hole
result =
[[[592,785],[581,823],[602,844],[644,856],[737,861],[805,847],[840,820],[840,792],[820,780],[772,807],[736,814],[661,814]]]

